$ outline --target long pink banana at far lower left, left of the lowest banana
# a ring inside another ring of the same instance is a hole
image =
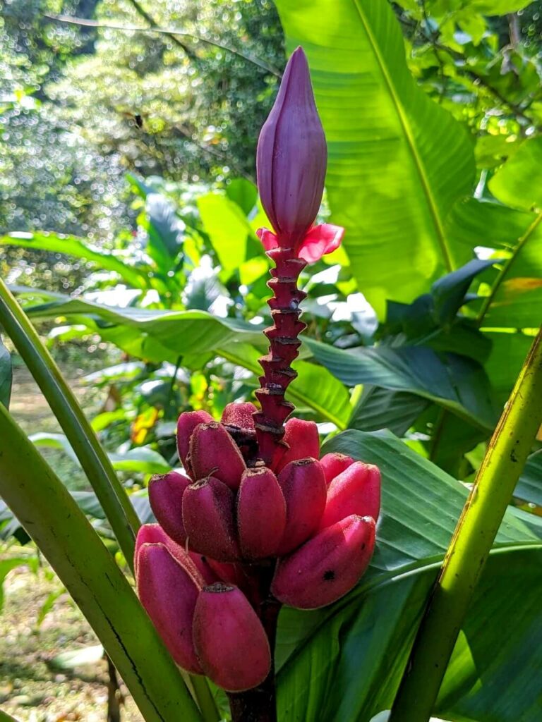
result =
[[[137,559],[137,593],[176,663],[202,674],[194,651],[192,623],[199,585],[163,544],[142,544]]]

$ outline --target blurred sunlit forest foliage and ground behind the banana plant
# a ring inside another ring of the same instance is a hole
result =
[[[468,129],[476,183],[467,191],[476,200],[496,197],[499,204],[491,208],[504,208],[507,184],[500,184],[501,196],[492,195],[491,179],[542,131],[542,1],[400,0],[391,6],[410,73]],[[397,77],[403,63],[397,61]],[[225,404],[250,399],[256,386],[254,347],[261,334],[251,330],[259,332],[267,318],[268,264],[254,239],[264,222],[254,187],[255,149],[284,64],[285,40],[272,0],[0,0],[0,274],[23,305],[38,309],[40,333],[76,388],[142,518],[149,514],[150,474],[177,461],[178,412],[206,408],[219,417]],[[535,173],[533,153],[541,152],[539,143],[530,147],[530,154],[520,156],[527,183],[525,168]],[[379,167],[371,172],[378,177]],[[503,214],[502,223],[500,216],[491,217],[494,243],[487,244],[488,253],[503,245],[505,253],[516,253],[524,245],[517,229],[525,218],[517,209],[526,217],[535,208],[524,208],[512,194],[509,205],[515,210]],[[364,208],[355,212],[362,216]],[[495,229],[501,225],[499,235]],[[374,233],[377,237],[377,228]],[[516,245],[499,245],[501,236]],[[478,255],[483,258],[483,251]],[[530,269],[541,263],[531,255]],[[444,274],[444,266],[439,269]],[[533,276],[530,269],[523,275]],[[313,277],[302,279],[309,294],[308,337],[333,350],[405,343],[417,352],[426,338],[438,336],[428,347],[463,355],[458,373],[472,386],[460,403],[454,397],[455,406],[443,401],[438,383],[431,386],[442,370],[434,370],[439,360],[431,356],[424,368],[419,364],[427,357],[418,363],[413,354],[413,367],[424,377],[422,393],[418,376],[392,387],[404,391],[382,391],[377,381],[348,378],[338,355],[314,345],[311,352],[322,365],[301,360],[299,383],[292,387],[299,413],[320,422],[322,435],[345,427],[389,427],[445,471],[472,480],[495,409],[506,399],[533,335],[518,329],[532,331],[541,298],[539,287],[517,286],[532,293],[515,307],[519,320],[493,323],[515,334],[514,363],[494,357],[486,363],[491,342],[502,340],[493,334],[490,342],[491,334],[478,329],[487,305],[476,323],[472,314],[466,331],[468,323],[459,317],[468,284],[483,272],[480,266],[467,277],[451,313],[438,319],[438,329],[431,319],[426,333],[408,328],[412,318],[406,312],[384,323],[384,299],[377,318],[358,287],[358,273],[350,269],[348,243],[321,261]],[[423,303],[416,303],[432,292],[429,275],[426,287],[419,282],[416,292],[400,298],[413,304],[413,318],[423,323]],[[488,296],[493,299],[502,281],[495,277],[494,269],[486,270],[476,281],[477,292],[483,295],[494,284]],[[418,296],[422,291],[426,294]],[[105,307],[111,305],[123,311],[110,313]],[[218,341],[199,349],[205,334],[211,340],[219,331],[225,334],[225,325],[217,324],[192,336],[181,329],[187,335],[177,346],[170,344],[177,331],[162,323],[159,315],[166,310],[209,311],[228,322],[229,333],[245,334],[243,343],[233,344],[234,352],[227,346],[233,336],[224,336],[222,350],[216,350]],[[15,354],[13,362],[14,417],[111,541],[66,438]],[[481,398],[489,388],[486,371],[496,393],[491,408]],[[372,396],[361,395],[363,383],[366,390],[374,383]],[[321,404],[313,399],[314,388],[322,392]],[[536,503],[541,509],[542,500]],[[10,573],[0,614],[0,703],[7,701],[7,709],[25,721],[93,722],[103,719],[96,710],[109,694],[114,713],[118,690],[106,661],[96,666],[101,648],[1,506],[0,534],[10,544],[9,554],[0,557],[0,585]],[[3,601],[0,586],[0,610]],[[72,647],[77,653],[69,656]],[[130,704],[124,718],[139,721]]]

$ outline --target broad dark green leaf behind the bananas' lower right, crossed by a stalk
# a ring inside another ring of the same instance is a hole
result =
[[[391,707],[467,490],[389,434],[348,431],[324,451],[380,467],[377,547],[369,572],[343,600],[314,612],[281,612],[280,719],[367,722]],[[524,521],[528,518],[515,510],[505,516],[444,681],[435,710],[439,717],[538,719],[540,687],[532,669],[542,661],[542,541],[541,523],[531,525]],[[521,681],[525,694],[504,679]]]

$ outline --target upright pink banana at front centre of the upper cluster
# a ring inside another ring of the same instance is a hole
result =
[[[246,469],[237,495],[237,528],[243,556],[272,557],[285,526],[286,503],[275,474],[264,466]]]

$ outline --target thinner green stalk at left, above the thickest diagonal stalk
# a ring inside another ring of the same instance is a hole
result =
[[[134,507],[72,389],[41,342],[34,326],[1,279],[0,323],[59,420],[106,513],[126,562],[132,567],[134,536],[139,529],[139,518]]]

